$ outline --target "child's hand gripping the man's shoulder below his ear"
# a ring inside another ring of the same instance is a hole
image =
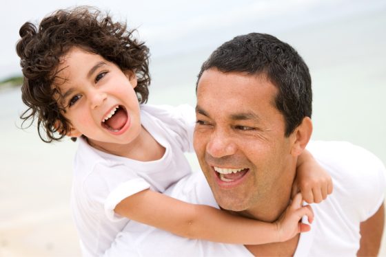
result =
[[[320,203],[332,193],[332,179],[308,150],[298,157],[292,195],[301,192],[307,203]]]

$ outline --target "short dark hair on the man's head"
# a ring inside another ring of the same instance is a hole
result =
[[[265,74],[278,93],[275,104],[285,118],[285,136],[289,136],[303,118],[311,118],[311,76],[296,50],[269,34],[250,33],[223,43],[203,63],[203,72],[216,68],[221,72]]]

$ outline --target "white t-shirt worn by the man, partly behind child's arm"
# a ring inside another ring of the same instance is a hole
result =
[[[294,256],[356,256],[360,222],[385,197],[385,167],[367,150],[346,142],[311,142],[307,147],[332,176],[334,192],[320,204],[311,232],[301,234]],[[165,191],[177,199],[218,208],[201,172]],[[190,240],[130,221],[105,256],[252,256],[243,245]]]

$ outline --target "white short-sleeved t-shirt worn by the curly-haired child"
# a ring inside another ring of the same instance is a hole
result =
[[[83,256],[103,254],[128,223],[129,219],[114,213],[119,202],[148,188],[163,192],[191,173],[184,152],[193,151],[194,122],[194,109],[187,105],[141,105],[141,124],[165,147],[165,154],[156,161],[111,155],[79,139],[71,206]]]

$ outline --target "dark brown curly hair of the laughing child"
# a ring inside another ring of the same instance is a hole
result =
[[[28,107],[20,115],[22,127],[27,120],[31,119],[29,127],[37,119],[39,137],[48,143],[62,139],[70,131],[70,121],[63,116],[65,110],[57,103],[61,93],[54,83],[58,81],[61,57],[72,47],[99,54],[123,71],[134,71],[138,80],[134,90],[139,102],[146,102],[149,49],[132,38],[133,32],[127,30],[125,23],[114,23],[109,14],[102,15],[87,6],[57,10],[45,17],[39,28],[24,23],[16,47],[24,76],[21,98]]]

